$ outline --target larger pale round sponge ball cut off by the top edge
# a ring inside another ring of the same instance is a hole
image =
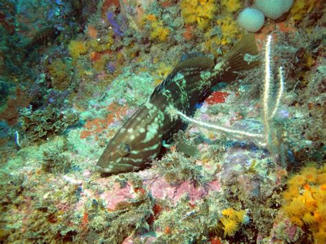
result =
[[[285,12],[292,7],[293,0],[256,0],[254,8],[261,10],[270,19],[279,19]]]

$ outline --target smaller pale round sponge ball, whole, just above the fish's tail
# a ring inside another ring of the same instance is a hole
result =
[[[245,8],[237,19],[239,25],[249,32],[258,32],[265,23],[263,13],[254,8]]]

